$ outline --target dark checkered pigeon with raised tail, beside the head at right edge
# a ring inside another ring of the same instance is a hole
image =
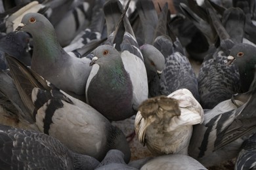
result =
[[[240,93],[241,86],[238,68],[234,65],[231,67],[226,65],[226,59],[235,42],[228,35],[209,2],[205,1],[205,5],[207,4],[207,10],[219,35],[220,43],[217,48],[209,47],[209,53],[205,56],[198,73],[198,90],[203,109],[213,109],[221,101],[230,99],[234,93]],[[229,14],[230,18],[244,20],[241,9],[230,9],[226,14]]]

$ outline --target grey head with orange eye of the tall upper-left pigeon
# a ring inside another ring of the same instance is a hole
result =
[[[47,28],[49,31],[54,30],[53,25],[51,24],[51,22],[49,22],[47,18],[45,18],[45,16],[39,13],[30,12],[23,16],[21,23],[18,25],[15,31],[26,31],[32,34],[33,37],[35,33],[40,32],[39,29],[45,28]]]

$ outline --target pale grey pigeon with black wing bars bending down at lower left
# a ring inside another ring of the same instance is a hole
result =
[[[70,150],[101,161],[110,149],[119,149],[129,162],[125,135],[100,112],[58,90],[20,61],[7,56],[14,84],[39,130],[56,137]]]

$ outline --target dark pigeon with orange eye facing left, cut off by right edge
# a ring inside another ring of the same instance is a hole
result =
[[[254,78],[256,47],[247,43],[239,43],[230,49],[228,65],[234,63],[238,67],[242,92],[247,92]]]

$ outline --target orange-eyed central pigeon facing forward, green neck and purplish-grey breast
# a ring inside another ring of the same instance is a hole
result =
[[[133,84],[120,53],[110,45],[93,50],[93,65],[87,80],[87,103],[108,120],[124,120],[134,114]]]

